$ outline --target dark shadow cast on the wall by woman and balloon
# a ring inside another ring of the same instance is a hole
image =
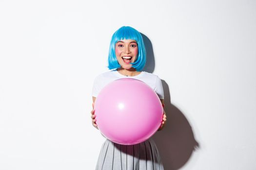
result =
[[[147,51],[147,62],[143,71],[153,73],[155,57],[152,43],[146,35],[141,35]],[[164,169],[178,170],[186,164],[193,151],[199,148],[199,144],[184,114],[175,105],[171,104],[168,84],[162,80],[162,85],[167,121],[163,130],[157,132],[153,139],[158,146]]]

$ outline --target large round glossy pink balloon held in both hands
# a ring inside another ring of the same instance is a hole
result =
[[[137,144],[153,136],[163,117],[156,92],[132,78],[106,85],[98,94],[94,108],[102,135],[123,145]]]

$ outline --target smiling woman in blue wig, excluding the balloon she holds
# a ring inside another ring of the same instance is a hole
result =
[[[146,50],[141,34],[132,27],[123,26],[112,36],[108,72],[95,78],[93,85],[93,110],[91,118],[93,126],[97,127],[94,115],[94,102],[99,91],[108,83],[131,77],[145,82],[158,94],[163,104],[163,87],[158,76],[141,71],[146,63]],[[161,130],[165,124],[166,115],[163,113]],[[96,170],[163,170],[161,158],[153,139],[136,145],[120,145],[108,139],[102,145]]]

